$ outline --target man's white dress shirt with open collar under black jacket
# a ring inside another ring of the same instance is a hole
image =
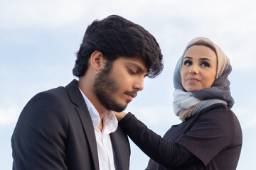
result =
[[[80,89],[81,91],[81,89]],[[114,156],[110,139],[110,133],[117,130],[118,121],[112,111],[109,111],[103,118],[102,132],[98,129],[100,125],[100,115],[89,99],[82,93],[85,103],[92,118],[92,124],[95,130],[95,138],[97,142],[97,154],[99,159],[100,170],[115,170]]]

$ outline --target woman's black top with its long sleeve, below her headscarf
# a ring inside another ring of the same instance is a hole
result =
[[[235,114],[224,104],[203,109],[161,137],[128,113],[119,125],[151,159],[147,170],[236,169],[242,130]]]

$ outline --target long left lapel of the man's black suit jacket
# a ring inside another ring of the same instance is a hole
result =
[[[99,161],[97,155],[97,143],[95,139],[95,131],[92,125],[92,119],[90,118],[90,113],[87,109],[84,99],[82,98],[82,94],[78,89],[78,84],[76,80],[71,81],[68,86],[65,86],[70,96],[70,100],[75,103],[75,110],[78,112],[80,120],[82,122],[82,127],[85,130],[85,135],[87,137],[87,141],[90,146],[92,161],[95,164],[95,169],[99,170]]]

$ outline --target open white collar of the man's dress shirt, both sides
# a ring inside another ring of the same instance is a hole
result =
[[[79,88],[79,87],[78,87]],[[84,93],[82,93],[81,89],[79,88],[82,97],[85,100],[86,106],[88,108],[88,111],[90,113],[90,117],[92,119],[92,124],[95,129],[100,125],[100,114],[97,112],[95,106],[92,105],[92,103],[89,101],[89,99],[85,96]],[[107,114],[103,118],[103,130],[102,133],[110,134],[117,130],[118,121],[115,117],[114,113],[112,111],[107,112]]]

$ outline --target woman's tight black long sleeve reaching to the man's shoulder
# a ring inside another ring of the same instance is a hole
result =
[[[192,162],[199,162],[196,156],[188,152],[185,147],[177,143],[164,140],[152,130],[149,130],[144,123],[139,121],[132,113],[128,113],[120,122],[131,140],[155,162],[167,169],[184,166]]]

